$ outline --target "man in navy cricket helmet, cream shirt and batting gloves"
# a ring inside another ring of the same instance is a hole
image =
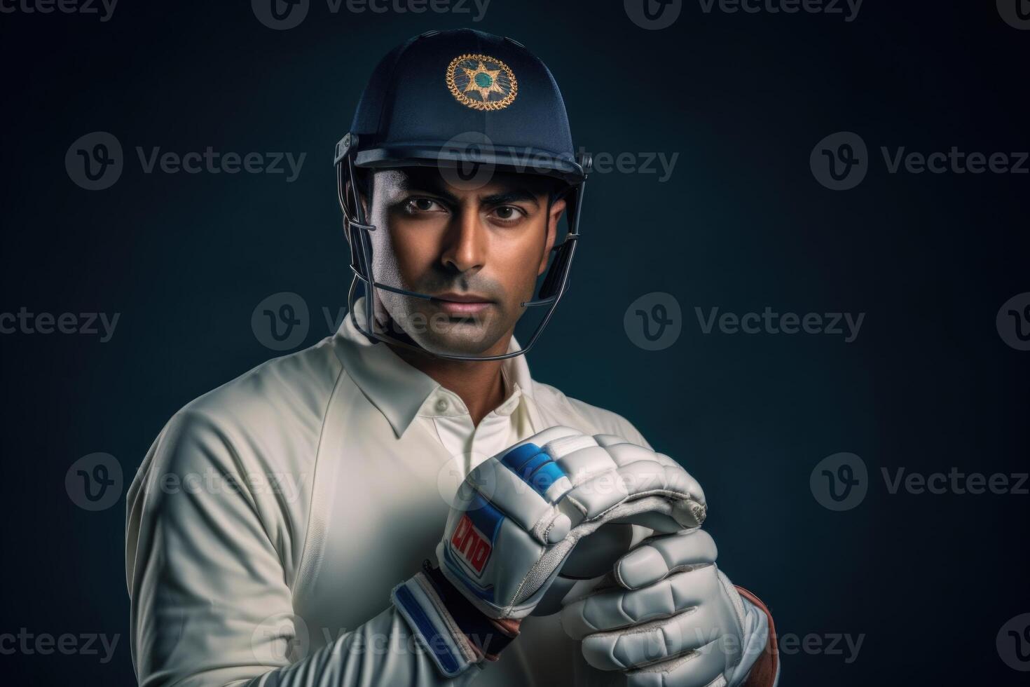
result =
[[[179,411],[130,489],[141,684],[775,683],[700,487],[521,355],[579,239],[572,149],[511,39],[430,32],[380,63],[337,145],[349,316]],[[571,575],[626,523],[607,575]]]

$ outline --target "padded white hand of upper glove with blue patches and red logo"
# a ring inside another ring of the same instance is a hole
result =
[[[528,615],[579,539],[605,522],[646,511],[677,528],[703,519],[700,487],[672,458],[600,439],[551,427],[466,479],[437,557],[487,616]]]

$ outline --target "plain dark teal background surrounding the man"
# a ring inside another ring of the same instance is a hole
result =
[[[903,5],[903,6],[899,6]],[[961,5],[961,6],[959,6]],[[673,177],[591,177],[572,287],[529,355],[535,376],[615,410],[703,485],[720,564],[781,634],[864,634],[858,659],[783,656],[782,685],[1026,684],[995,636],[1030,612],[1027,495],[890,495],[880,469],[1028,470],[1030,352],[995,314],[1030,290],[1030,175],[888,174],[879,147],[1030,149],[1030,32],[993,2],[866,0],[858,19],[705,14],[645,31],[621,2],[493,0],[469,14],[332,14],[289,31],[247,2],[122,0],[112,19],[0,14],[0,311],[121,313],[114,337],[0,336],[4,412],[0,633],[121,633],[115,659],[0,654],[8,684],[131,684],[125,497],[90,513],[68,467],[113,454],[128,483],[164,422],[274,353],[254,306],[290,290],[345,302],[349,253],[332,149],[380,56],[473,26],[551,68],[577,146],[679,152]],[[855,190],[813,178],[836,131],[877,158]],[[64,168],[92,131],[126,169],[88,192]],[[307,152],[284,175],[143,174],[135,146]],[[623,313],[673,294],[683,334],[633,346]],[[701,334],[694,307],[865,312],[857,340]],[[858,508],[809,476],[850,451]],[[355,590],[355,593],[360,593]],[[383,599],[384,607],[386,599]]]

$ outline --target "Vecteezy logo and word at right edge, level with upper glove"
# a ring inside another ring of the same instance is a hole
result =
[[[957,467],[948,472],[909,472],[906,468],[881,468],[889,495],[1030,495],[1030,473],[966,473]],[[865,462],[854,453],[834,453],[820,460],[809,477],[812,495],[831,511],[850,511],[865,499],[870,487]]]

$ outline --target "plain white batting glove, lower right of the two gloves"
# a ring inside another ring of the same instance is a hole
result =
[[[695,528],[641,542],[614,581],[566,599],[561,624],[586,661],[630,687],[737,687],[765,648],[765,614],[743,599]]]

